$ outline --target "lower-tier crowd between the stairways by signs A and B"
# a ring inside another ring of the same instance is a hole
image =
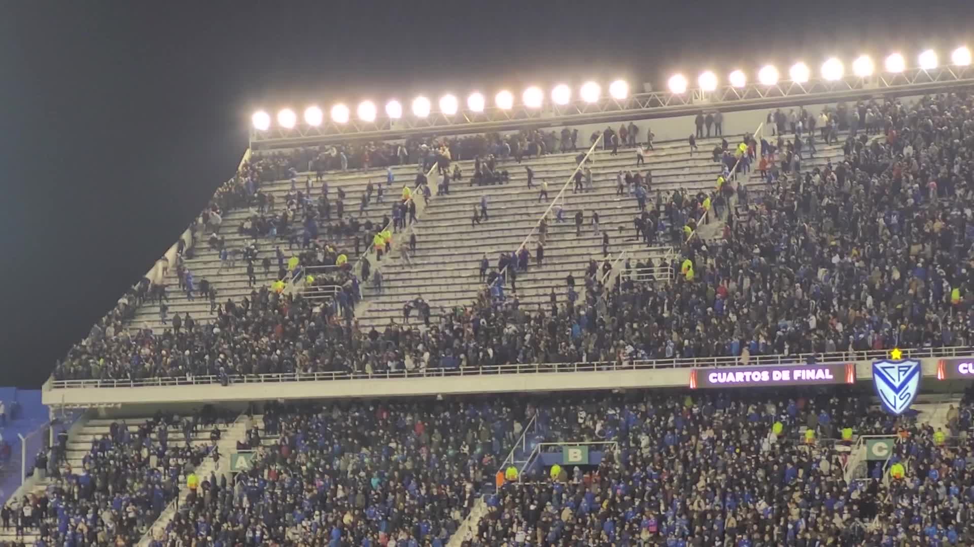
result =
[[[180,506],[157,545],[445,546],[526,412],[486,400],[270,404],[248,435],[249,469]]]

